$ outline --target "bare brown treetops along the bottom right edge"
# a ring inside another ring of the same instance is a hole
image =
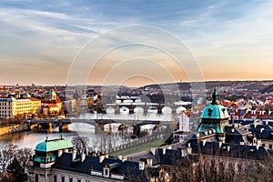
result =
[[[200,155],[197,159],[177,160],[174,166],[163,166],[157,181],[174,182],[273,182],[273,157],[263,160]]]

